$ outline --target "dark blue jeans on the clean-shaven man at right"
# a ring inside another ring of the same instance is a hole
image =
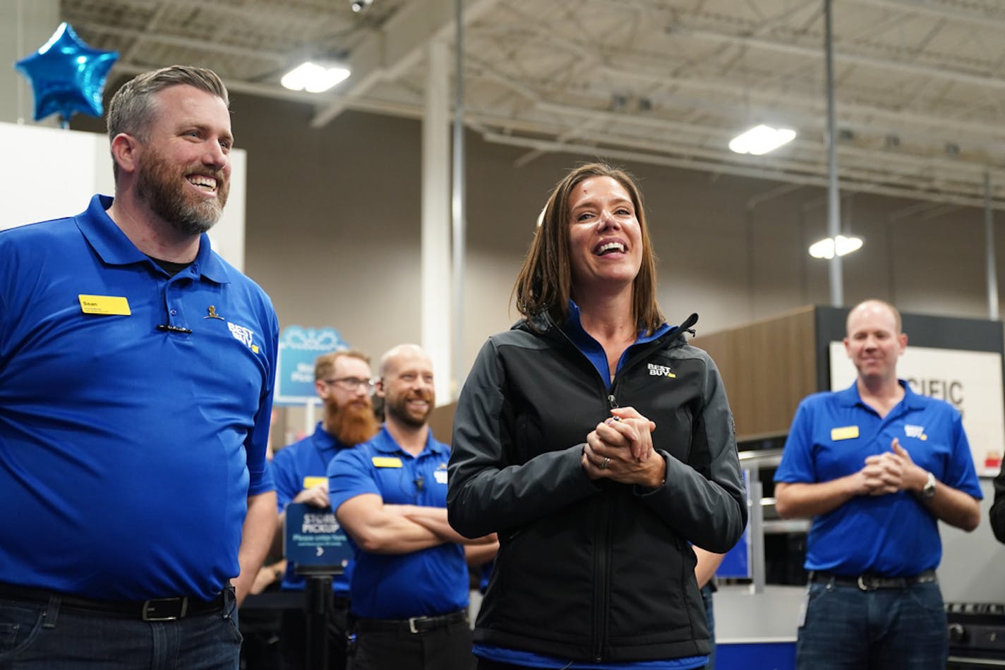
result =
[[[939,584],[861,591],[811,583],[799,629],[801,670],[945,670],[946,611]]]

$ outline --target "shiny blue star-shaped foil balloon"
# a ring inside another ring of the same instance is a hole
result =
[[[35,93],[35,121],[58,113],[65,128],[75,111],[100,117],[102,92],[118,51],[87,46],[61,23],[38,51],[14,63]]]

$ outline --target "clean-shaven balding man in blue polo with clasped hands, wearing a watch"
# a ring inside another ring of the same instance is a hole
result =
[[[946,667],[938,521],[973,530],[982,493],[960,413],[896,378],[907,346],[892,305],[853,307],[844,348],[858,378],[800,404],[775,474],[778,512],[813,517],[804,670]]]

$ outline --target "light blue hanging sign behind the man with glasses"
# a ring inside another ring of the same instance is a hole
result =
[[[276,363],[276,405],[303,405],[318,400],[314,387],[314,362],[349,345],[335,328],[305,328],[288,325],[279,333]]]

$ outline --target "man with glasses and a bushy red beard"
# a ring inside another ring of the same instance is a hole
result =
[[[335,352],[315,361],[315,390],[325,404],[325,418],[313,435],[279,450],[272,459],[281,541],[286,505],[304,502],[328,509],[328,464],[336,454],[372,438],[380,426],[370,392],[370,359],[356,351]],[[349,610],[349,574],[332,580],[333,609],[329,612],[329,667],[346,667],[346,615]],[[277,576],[278,577],[278,576]],[[282,589],[304,591],[305,579],[286,566]],[[303,610],[286,610],[282,618],[282,649],[287,670],[304,668],[306,617]],[[312,669],[314,670],[314,669]]]

